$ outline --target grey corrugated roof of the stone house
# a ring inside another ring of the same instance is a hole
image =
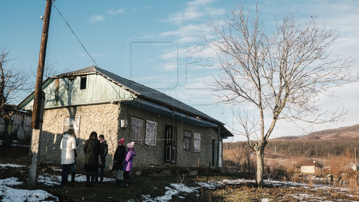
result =
[[[193,107],[171,97],[166,95],[165,93],[162,93],[160,91],[157,91],[153,88],[144,86],[142,84],[139,84],[135,81],[132,80],[128,80],[125,79],[121,76],[118,76],[114,73],[111,73],[109,71],[106,71],[104,69],[98,68],[96,66],[90,66],[90,67],[86,67],[83,69],[79,69],[76,71],[71,71],[71,72],[67,72],[67,73],[62,73],[59,74],[57,76],[54,77],[63,77],[63,76],[71,76],[71,75],[81,75],[81,74],[90,74],[90,73],[96,73],[96,74],[100,74],[104,77],[106,77],[107,79],[111,80],[112,82],[118,83],[119,85],[124,86],[127,90],[132,91],[133,93],[135,93],[137,96],[142,97],[144,99],[149,99],[155,102],[160,102],[163,105],[167,105],[168,107],[171,108],[175,108],[177,110],[180,110],[182,112],[187,112],[189,114],[192,115],[196,115],[200,118],[204,118],[207,120],[210,120],[216,124],[219,124],[221,130],[220,133],[222,136],[224,137],[232,137],[233,134],[230,133],[223,125],[222,122],[204,114],[203,112],[194,109]],[[54,78],[52,77],[52,78]]]

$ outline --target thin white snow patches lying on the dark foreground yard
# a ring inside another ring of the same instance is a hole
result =
[[[6,167],[23,167],[21,165],[14,165],[14,164],[0,164],[0,169],[4,169]],[[56,168],[53,168],[56,169]],[[70,176],[69,176],[69,179]],[[85,182],[86,177],[83,175],[76,175],[75,180],[77,182]],[[104,179],[105,182],[111,182],[113,179]],[[53,185],[60,185],[61,182],[61,176],[39,176],[38,182],[44,183],[44,185],[47,186],[53,186]],[[19,185],[24,182],[18,182],[17,178],[7,178],[0,180],[0,195],[2,195],[2,201],[3,202],[58,202],[58,198],[54,197],[53,195],[43,191],[43,190],[20,190],[20,189],[13,189],[11,186]],[[184,184],[170,184],[165,189],[167,192],[164,196],[151,198],[149,195],[143,195],[143,201],[144,202],[168,202],[172,199],[174,195],[177,195],[181,199],[185,199],[186,193],[198,193],[201,187],[207,188],[207,189],[214,189],[216,187],[220,187],[223,185],[245,185],[248,183],[254,183],[253,180],[244,180],[244,179],[235,179],[235,180],[220,180],[220,181],[213,181],[213,182],[199,182],[198,184],[195,184],[195,186],[186,186]],[[287,187],[287,188],[307,188],[310,190],[325,190],[325,189],[331,189],[336,190],[337,192],[347,191],[346,188],[329,188],[327,186],[321,186],[321,185],[312,185],[309,186],[307,184],[301,184],[301,183],[290,183],[290,182],[283,182],[283,181],[265,181],[265,184],[270,184],[271,186],[277,186],[277,187]],[[155,187],[155,189],[157,189]],[[183,197],[184,196],[184,197]],[[199,196],[199,195],[198,195]],[[264,195],[265,196],[265,195]],[[297,199],[298,201],[307,201],[308,199],[312,201],[318,201],[318,202],[331,202],[328,200],[325,200],[323,197],[317,197],[311,194],[291,194],[290,195],[293,199]],[[353,195],[348,195],[349,197],[353,197]],[[47,199],[50,199],[47,201]],[[132,202],[130,200],[129,202]],[[268,198],[262,198],[261,202],[270,202]],[[354,201],[352,201],[354,202]]]

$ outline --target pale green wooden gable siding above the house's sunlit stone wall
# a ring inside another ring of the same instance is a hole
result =
[[[80,89],[81,76],[74,80],[69,77],[54,78],[49,80],[42,90],[45,92],[45,109],[52,107],[91,104],[112,100],[131,99],[131,93],[108,81],[101,75],[89,74],[86,76],[86,89]],[[33,106],[33,95],[21,108],[31,110]]]

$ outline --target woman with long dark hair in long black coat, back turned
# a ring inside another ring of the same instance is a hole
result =
[[[83,150],[85,153],[85,171],[86,171],[86,187],[93,187],[96,170],[98,170],[98,159],[101,153],[101,144],[97,139],[97,133],[92,132],[88,140],[86,140]],[[90,184],[91,176],[91,184]]]

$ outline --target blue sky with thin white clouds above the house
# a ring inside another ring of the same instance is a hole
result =
[[[255,8],[255,1],[243,1],[246,10]],[[228,106],[214,105],[210,93],[212,75],[216,74],[213,52],[203,48],[201,32],[213,32],[205,24],[209,17],[222,19],[235,8],[233,0],[194,1],[118,1],[118,0],[56,0],[63,17],[81,40],[98,67],[158,89],[189,104],[209,116],[239,129]],[[261,18],[268,33],[275,28],[275,17],[288,10],[296,11],[299,21],[316,14],[319,21],[337,28],[340,38],[332,46],[333,56],[342,58],[359,55],[359,2],[357,0],[259,0]],[[36,68],[40,47],[45,0],[0,2],[0,45],[10,49],[26,68]],[[95,65],[76,37],[52,7],[46,60],[77,70]],[[353,72],[358,70],[353,63]],[[337,87],[340,97],[323,97],[325,109],[345,107],[347,119],[332,128],[358,124],[358,84]],[[306,126],[302,124],[301,126]],[[227,127],[229,129],[229,127]],[[315,126],[314,131],[327,129]],[[271,137],[300,135],[292,123],[279,122]],[[228,141],[244,140],[236,136]]]

